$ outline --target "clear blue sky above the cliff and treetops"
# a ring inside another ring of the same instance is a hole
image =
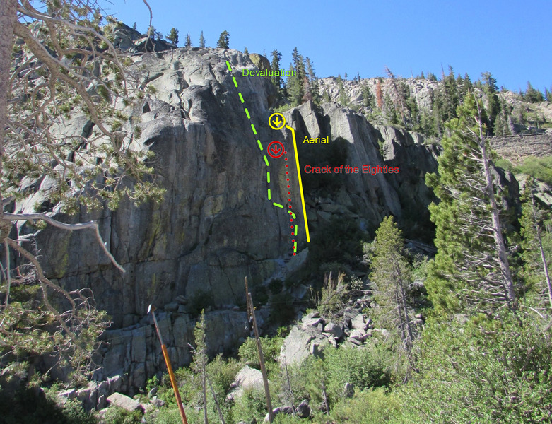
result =
[[[138,30],[148,28],[141,0],[104,1],[112,13]],[[552,86],[552,3],[550,0],[149,0],[153,25],[163,34],[179,30],[214,47],[223,30],[230,48],[250,53],[273,49],[286,69],[293,47],[310,57],[317,76],[384,76],[385,66],[409,77],[422,71],[440,77],[468,73],[472,80],[490,71],[498,86],[525,89],[527,81]]]

